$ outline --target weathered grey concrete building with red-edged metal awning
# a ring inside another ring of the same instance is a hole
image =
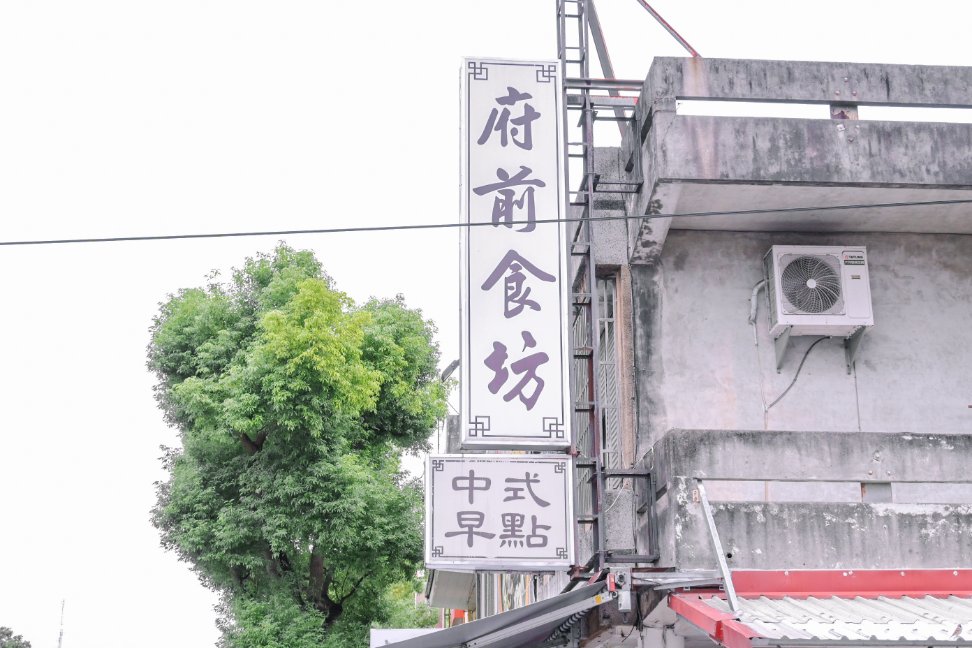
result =
[[[579,555],[602,560],[529,583],[617,591],[549,643],[490,645],[972,643],[972,119],[935,114],[956,107],[972,68],[655,59],[596,150],[615,219],[590,291],[604,463],[653,479],[597,503],[578,471]],[[863,337],[771,334],[775,245],[866,248]]]

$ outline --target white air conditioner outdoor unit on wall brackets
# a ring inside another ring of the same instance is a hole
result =
[[[863,246],[774,245],[763,258],[777,369],[793,335],[846,338],[848,370],[874,325]]]

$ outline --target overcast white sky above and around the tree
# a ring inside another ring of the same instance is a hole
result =
[[[0,2],[0,240],[458,220],[459,61],[555,58],[554,0]],[[969,3],[656,0],[704,56],[972,65]],[[682,55],[598,3],[619,77]],[[458,355],[458,233],[293,236]],[[0,625],[35,648],[211,646],[149,523],[167,293],[273,238],[0,247]]]

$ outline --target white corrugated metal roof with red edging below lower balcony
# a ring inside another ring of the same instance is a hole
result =
[[[705,603],[730,612],[717,596]],[[767,639],[972,641],[972,597],[741,597],[739,621]]]

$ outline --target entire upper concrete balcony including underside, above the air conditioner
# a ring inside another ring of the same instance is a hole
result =
[[[642,183],[626,199],[629,214],[739,210],[767,199],[775,209],[964,199],[972,191],[972,124],[676,114],[677,99],[693,98],[968,106],[972,68],[657,58],[638,100],[635,128],[623,138],[627,179]],[[876,190],[897,193],[876,200]],[[901,214],[888,216],[900,220]],[[824,221],[807,229],[841,229],[827,223],[831,216],[800,214]],[[916,210],[911,217],[913,227],[905,219],[878,229],[968,233],[970,212],[953,205],[931,216]],[[687,219],[630,222],[632,262],[655,262],[679,220]]]

